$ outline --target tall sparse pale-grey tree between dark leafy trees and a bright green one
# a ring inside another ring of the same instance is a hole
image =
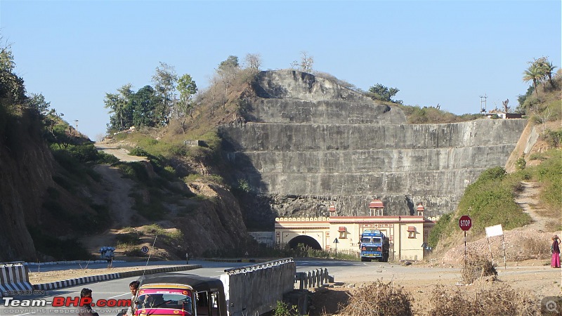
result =
[[[174,67],[160,62],[160,66],[156,67],[156,73],[152,76],[152,83],[159,97],[159,104],[156,107],[156,118],[159,125],[166,125],[174,112],[176,105],[176,83],[178,75]]]

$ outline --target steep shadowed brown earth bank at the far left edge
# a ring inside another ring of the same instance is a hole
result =
[[[53,155],[27,119],[0,130],[0,261],[34,260],[27,227],[39,224],[43,196],[53,185]]]

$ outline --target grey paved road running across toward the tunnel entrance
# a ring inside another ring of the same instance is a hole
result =
[[[162,265],[163,262],[154,262],[152,265]],[[176,262],[166,262],[168,264],[183,264],[184,261]],[[144,263],[119,263],[122,266],[142,266]],[[202,275],[207,277],[219,277],[223,274],[225,269],[237,268],[244,265],[249,265],[249,263],[223,263],[223,262],[211,262],[211,261],[190,261],[190,264],[200,264],[203,268],[190,270],[186,274]],[[105,268],[106,265],[99,263],[96,265],[101,265],[100,268]],[[117,264],[116,264],[117,265]],[[377,277],[391,279],[405,278],[408,275],[412,279],[423,277],[424,268],[414,268],[414,267],[404,267],[402,265],[394,265],[392,263],[362,263],[358,261],[325,261],[325,260],[307,260],[307,261],[296,261],[297,272],[306,272],[308,270],[315,270],[319,268],[327,268],[329,275],[335,277],[337,282],[339,279],[348,279],[349,277],[358,276],[365,277],[365,275],[377,275]],[[67,265],[66,267],[61,265],[60,267],[50,267],[50,268],[76,268],[76,265]],[[89,267],[91,268],[91,267]],[[450,279],[455,279],[459,277],[458,269],[432,269],[432,272],[440,270],[443,272],[444,277],[449,277]],[[46,291],[44,295],[34,295],[34,296],[18,296],[16,299],[22,298],[44,298],[47,301],[52,301],[54,296],[79,296],[80,290],[84,287],[88,287],[93,290],[93,299],[104,298],[115,298],[115,299],[128,299],[131,298],[129,293],[129,283],[138,279],[138,277],[129,277],[124,279],[114,279],[105,282],[97,282],[92,284],[82,284],[77,287],[68,287],[65,289],[56,289],[52,291]],[[4,303],[4,302],[2,302]],[[117,312],[122,308],[98,308],[95,310],[101,315],[117,315]],[[49,305],[45,307],[6,307],[4,304],[0,306],[1,316],[22,316],[22,315],[77,315],[77,312],[73,308],[53,308]]]

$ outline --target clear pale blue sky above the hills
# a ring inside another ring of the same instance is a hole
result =
[[[400,89],[406,105],[455,114],[517,106],[533,58],[560,67],[560,0],[26,1],[0,0],[0,27],[27,91],[92,140],[109,121],[105,93],[151,83],[159,62],[205,88],[229,55],[263,70],[313,70],[367,90]],[[556,68],[558,70],[558,68]]]

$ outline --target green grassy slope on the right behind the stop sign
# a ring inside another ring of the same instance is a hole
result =
[[[557,86],[562,86],[561,76],[556,77]],[[429,235],[429,243],[440,250],[456,246],[459,242],[458,220],[468,214],[473,220],[472,234],[476,238],[485,235],[484,228],[502,224],[505,230],[521,227],[530,223],[528,214],[514,202],[516,193],[522,190],[521,181],[540,183],[540,205],[537,208],[547,210],[547,216],[553,218],[549,227],[552,231],[562,229],[562,101],[560,89],[549,86],[540,87],[538,93],[532,93],[523,103],[528,114],[529,124],[525,131],[533,126],[540,133],[540,138],[528,154],[523,154],[523,147],[515,162],[510,162],[510,171],[503,168],[488,169],[475,183],[466,187],[466,191],[453,213],[445,214]]]

